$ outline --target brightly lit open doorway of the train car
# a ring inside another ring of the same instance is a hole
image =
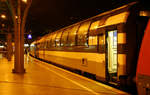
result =
[[[117,30],[106,33],[106,78],[108,81],[117,80]]]

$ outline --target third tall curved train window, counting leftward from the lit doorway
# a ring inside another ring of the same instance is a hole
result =
[[[68,34],[70,32],[71,28],[66,29],[61,38],[61,46],[68,46]]]

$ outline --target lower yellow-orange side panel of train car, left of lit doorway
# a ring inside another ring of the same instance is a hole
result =
[[[105,54],[46,51],[45,60],[105,79]]]

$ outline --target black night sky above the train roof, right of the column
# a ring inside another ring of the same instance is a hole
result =
[[[137,0],[32,0],[27,28],[33,36],[58,30]]]

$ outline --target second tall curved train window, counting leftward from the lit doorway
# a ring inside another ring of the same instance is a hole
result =
[[[75,46],[76,45],[76,34],[77,30],[80,25],[76,25],[73,28],[71,28],[70,33],[68,35],[68,46]]]

